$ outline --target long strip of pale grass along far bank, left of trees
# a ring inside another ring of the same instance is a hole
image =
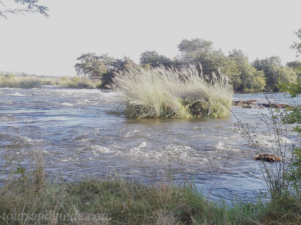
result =
[[[36,77],[36,76],[14,76],[0,74],[0,87],[7,88],[42,88],[42,85],[54,85],[64,88],[98,88],[101,85],[99,79],[86,77]]]

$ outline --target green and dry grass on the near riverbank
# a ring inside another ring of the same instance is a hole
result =
[[[72,183],[10,182],[1,224],[301,224],[296,199],[226,205],[193,185],[86,177]],[[23,216],[22,216],[23,215]],[[13,219],[12,219],[13,218]]]

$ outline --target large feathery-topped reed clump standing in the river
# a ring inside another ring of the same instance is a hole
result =
[[[209,78],[194,66],[120,71],[107,87],[123,94],[126,114],[137,118],[228,116],[234,94],[226,76]]]

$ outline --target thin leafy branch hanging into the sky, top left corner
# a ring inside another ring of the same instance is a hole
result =
[[[24,13],[41,13],[42,15],[48,17],[46,11],[48,10],[46,6],[38,5],[38,0],[13,0],[15,4],[22,6],[21,8],[7,8],[5,7],[3,1],[0,1],[3,9],[0,9],[0,16],[8,18],[6,15],[8,13],[12,14],[23,14]]]

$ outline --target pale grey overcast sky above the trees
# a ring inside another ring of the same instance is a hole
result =
[[[3,3],[9,0],[2,0]],[[0,71],[74,76],[82,53],[124,55],[139,62],[141,52],[155,50],[170,58],[182,39],[203,38],[228,55],[241,49],[249,60],[281,56],[298,41],[300,0],[40,0],[40,14],[0,17]],[[2,7],[2,6],[0,6]]]

